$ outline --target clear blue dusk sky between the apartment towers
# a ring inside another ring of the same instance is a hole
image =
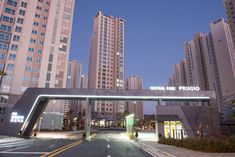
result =
[[[225,16],[223,0],[75,0],[70,60],[88,73],[90,37],[98,11],[121,17],[125,25],[125,77],[141,76],[144,88],[165,85],[173,65],[184,58],[183,43]],[[145,113],[154,113],[145,104]]]

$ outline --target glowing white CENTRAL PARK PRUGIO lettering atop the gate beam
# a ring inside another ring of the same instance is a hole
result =
[[[162,90],[162,91],[200,91],[198,86],[151,86],[150,90]]]

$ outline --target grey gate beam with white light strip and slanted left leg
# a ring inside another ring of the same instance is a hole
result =
[[[205,101],[217,107],[213,91],[162,91],[162,90],[112,90],[28,88],[0,126],[0,134],[8,136],[31,135],[49,100],[86,100],[86,135],[90,135],[91,105],[95,100],[112,101]]]

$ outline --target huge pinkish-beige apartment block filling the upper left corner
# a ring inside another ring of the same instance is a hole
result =
[[[28,87],[66,87],[74,2],[0,1],[0,91],[8,104]]]

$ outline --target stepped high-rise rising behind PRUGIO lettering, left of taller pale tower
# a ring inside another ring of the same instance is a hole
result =
[[[209,35],[197,33],[185,43],[187,85],[199,86],[201,90],[213,89],[211,47]]]

